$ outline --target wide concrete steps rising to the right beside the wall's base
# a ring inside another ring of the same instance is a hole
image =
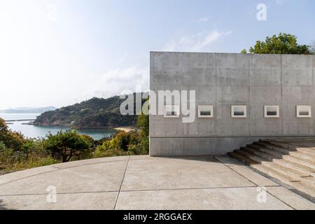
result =
[[[228,155],[315,198],[315,148],[260,140]]]

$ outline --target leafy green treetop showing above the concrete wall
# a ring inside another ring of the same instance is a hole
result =
[[[254,47],[249,48],[254,54],[293,54],[311,55],[309,45],[297,44],[297,37],[292,34],[279,34],[279,36],[267,36],[265,41],[256,41]],[[242,53],[246,50],[242,50]]]

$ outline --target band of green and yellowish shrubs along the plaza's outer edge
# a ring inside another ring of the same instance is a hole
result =
[[[9,130],[0,118],[0,169],[10,172],[70,160],[146,155],[149,148],[148,116],[138,117],[138,127],[140,132],[118,132],[113,138],[99,141],[72,130],[49,134],[45,139],[25,139],[22,134]]]

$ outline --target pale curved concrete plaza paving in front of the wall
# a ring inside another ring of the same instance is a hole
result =
[[[0,176],[0,209],[315,209],[315,204],[228,156],[127,156]]]

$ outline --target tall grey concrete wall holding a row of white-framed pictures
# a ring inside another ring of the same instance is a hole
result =
[[[214,118],[150,116],[152,156],[224,154],[270,137],[314,136],[315,57],[151,52],[151,90],[196,90],[197,105],[214,105]],[[196,115],[197,115],[196,105]],[[247,118],[231,118],[231,105],[247,105]],[[280,118],[264,118],[279,105]],[[312,118],[296,118],[312,105]]]

